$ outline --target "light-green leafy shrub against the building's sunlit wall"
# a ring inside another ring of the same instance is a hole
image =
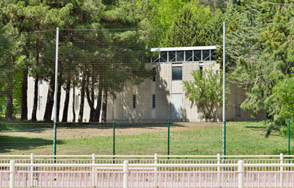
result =
[[[203,113],[206,120],[211,119],[215,110],[219,110],[223,100],[222,71],[215,73],[214,66],[212,64],[203,71],[194,70],[191,73],[194,80],[183,81],[186,97]],[[229,92],[229,87],[226,87],[226,93]]]

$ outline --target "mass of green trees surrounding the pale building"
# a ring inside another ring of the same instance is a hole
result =
[[[153,78],[155,73],[145,69],[152,47],[214,45],[220,62],[226,22],[225,68],[231,83],[245,89],[242,109],[251,110],[252,117],[266,110],[269,119],[287,119],[285,110],[291,111],[283,97],[290,96],[283,94],[292,92],[284,86],[293,78],[293,15],[293,0],[4,0],[0,105],[6,105],[7,119],[18,109],[26,120],[26,78],[33,77],[34,91],[42,79],[49,85],[44,119],[51,119],[56,27],[59,91],[65,89],[68,99],[70,90],[79,88],[91,107],[91,121],[98,121],[107,94],[120,92],[126,80],[139,84]],[[35,121],[38,92],[33,103]],[[79,109],[82,121],[83,106]],[[65,107],[63,121],[67,112]]]

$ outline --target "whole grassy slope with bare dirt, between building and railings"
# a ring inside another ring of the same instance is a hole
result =
[[[80,127],[82,126],[82,127]],[[53,123],[0,123],[3,155],[52,155]],[[112,155],[112,124],[59,124],[57,155]],[[226,123],[226,155],[288,154],[288,137],[273,131],[265,138],[263,122]],[[21,130],[21,131],[7,131]],[[167,124],[124,124],[116,127],[116,155],[167,155]],[[222,153],[222,123],[173,123],[170,155]],[[294,153],[293,153],[294,154]]]

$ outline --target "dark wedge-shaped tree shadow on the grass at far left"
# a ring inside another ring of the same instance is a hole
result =
[[[8,135],[0,135],[0,153],[9,153],[11,150],[29,150],[40,146],[52,145],[52,139],[40,139],[29,137],[11,137]],[[58,141],[57,144],[63,144]]]

